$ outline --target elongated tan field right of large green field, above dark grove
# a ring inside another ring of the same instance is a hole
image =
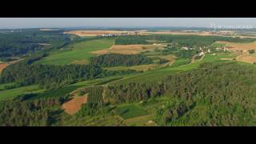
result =
[[[93,54],[139,54],[146,50],[154,50],[154,45],[114,45],[110,49],[97,50]]]

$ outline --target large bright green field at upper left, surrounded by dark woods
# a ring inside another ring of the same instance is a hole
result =
[[[46,58],[42,58],[39,63],[51,65],[67,65],[71,63],[84,64],[89,62],[89,59],[96,55],[90,53],[91,51],[108,49],[112,45],[114,45],[114,40],[106,38],[78,42],[70,46],[70,50],[59,50]]]

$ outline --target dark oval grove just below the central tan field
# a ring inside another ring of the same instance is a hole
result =
[[[142,54],[102,54],[93,57],[90,62],[98,66],[135,66],[153,63],[151,58]]]

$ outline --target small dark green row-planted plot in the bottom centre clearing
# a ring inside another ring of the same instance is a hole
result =
[[[142,107],[135,105],[119,106],[118,108],[114,109],[114,112],[125,120],[148,114],[148,112]]]

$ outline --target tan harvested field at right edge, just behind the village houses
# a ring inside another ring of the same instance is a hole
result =
[[[244,52],[248,50],[256,50],[256,42],[248,42],[248,43],[236,43],[236,42],[221,42],[217,43],[226,44],[230,48],[230,50],[242,50]]]

